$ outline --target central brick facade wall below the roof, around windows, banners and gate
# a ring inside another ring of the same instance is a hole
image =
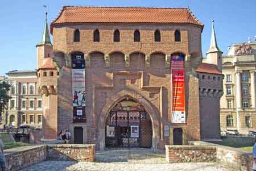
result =
[[[80,42],[73,42],[73,33],[79,28]],[[120,42],[113,42],[113,32],[120,31]],[[141,42],[134,42],[133,32],[141,32]],[[93,31],[100,31],[100,42],[93,42]],[[154,31],[161,32],[161,41],[154,41]],[[175,30],[181,32],[181,42],[174,41]],[[82,52],[89,58],[86,66],[86,142],[104,141],[105,118],[109,110],[122,98],[129,96],[142,105],[152,118],[153,142],[156,147],[169,144],[163,136],[164,125],[181,127],[186,140],[200,140],[199,83],[196,77],[186,74],[187,124],[171,124],[172,86],[171,69],[166,68],[166,55],[183,53],[201,55],[201,28],[190,24],[84,24],[53,28],[53,55],[59,55],[61,64],[68,64],[68,55]],[[106,66],[105,56],[110,56]],[[126,66],[125,56],[130,65]],[[149,68],[146,55],[150,56]],[[69,56],[70,57],[70,56]],[[151,94],[151,96],[150,96]],[[154,95],[152,95],[154,94]],[[58,82],[59,131],[73,125],[72,74],[65,66],[60,70]],[[170,135],[172,136],[172,135]],[[185,141],[186,142],[186,141]]]

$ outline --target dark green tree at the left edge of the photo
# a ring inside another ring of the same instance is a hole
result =
[[[0,118],[2,116],[2,112],[6,109],[7,103],[11,97],[8,95],[8,91],[10,90],[10,86],[7,82],[0,82]]]

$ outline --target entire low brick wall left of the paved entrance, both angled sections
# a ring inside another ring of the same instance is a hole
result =
[[[94,161],[95,145],[60,144],[35,145],[6,149],[8,171],[27,168],[44,160]]]

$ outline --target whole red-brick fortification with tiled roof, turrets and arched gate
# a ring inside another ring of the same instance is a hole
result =
[[[101,149],[220,139],[222,52],[213,28],[201,63],[203,27],[189,9],[64,6],[53,45],[47,21],[37,45],[44,139],[67,128]]]

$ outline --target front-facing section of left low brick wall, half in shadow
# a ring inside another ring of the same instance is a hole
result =
[[[48,145],[48,160],[94,161],[95,145],[61,144]]]

